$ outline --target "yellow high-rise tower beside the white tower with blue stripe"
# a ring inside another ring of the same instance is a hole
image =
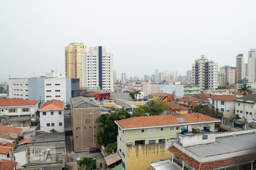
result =
[[[82,86],[82,54],[86,53],[86,46],[83,43],[72,42],[65,46],[65,76],[79,78]]]

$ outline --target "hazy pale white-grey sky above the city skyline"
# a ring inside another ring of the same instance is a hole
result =
[[[64,46],[114,54],[118,76],[185,74],[201,54],[235,66],[256,48],[256,1],[1,1],[0,79],[64,74]]]

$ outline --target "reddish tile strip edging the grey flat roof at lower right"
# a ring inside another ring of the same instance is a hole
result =
[[[168,150],[176,155],[178,158],[182,159],[185,163],[191,165],[191,167],[199,170],[217,169],[229,165],[247,163],[256,160],[256,154],[248,154],[232,158],[220,159],[213,162],[199,163],[197,162],[197,160],[191,158],[189,155],[184,154],[184,152],[180,151],[175,146],[168,148]]]

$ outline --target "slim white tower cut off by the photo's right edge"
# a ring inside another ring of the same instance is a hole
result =
[[[256,82],[256,49],[250,49],[248,53],[248,82]]]

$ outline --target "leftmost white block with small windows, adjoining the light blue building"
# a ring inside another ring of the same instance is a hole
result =
[[[28,79],[9,78],[9,98],[28,99]]]

